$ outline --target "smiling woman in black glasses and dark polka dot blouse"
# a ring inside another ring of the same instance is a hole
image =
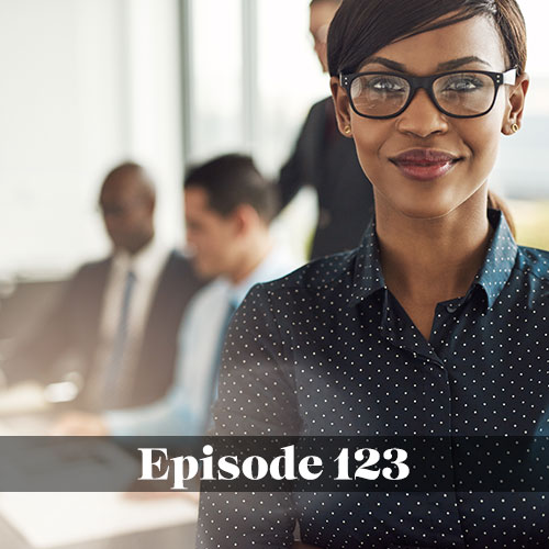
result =
[[[517,247],[488,210],[528,89],[518,5],[344,0],[328,59],[376,222],[355,251],[250,292],[226,341],[216,432],[533,435],[549,406],[549,254]],[[291,547],[295,520],[322,548],[549,540],[541,493],[205,493],[201,505],[199,547]]]

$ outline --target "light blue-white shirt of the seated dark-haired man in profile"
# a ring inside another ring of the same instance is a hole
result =
[[[238,284],[225,278],[210,282],[193,298],[179,328],[175,381],[166,396],[150,405],[103,415],[114,436],[199,436],[206,425],[214,388],[221,334],[231,303],[239,305],[250,288],[288,274],[295,265],[272,250]]]

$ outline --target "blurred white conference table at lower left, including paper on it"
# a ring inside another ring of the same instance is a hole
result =
[[[0,392],[0,436],[45,435],[55,407],[43,407],[36,388],[18,391]],[[195,494],[0,492],[0,548],[192,549],[197,498]]]

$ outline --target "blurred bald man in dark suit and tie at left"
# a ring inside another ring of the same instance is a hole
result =
[[[99,198],[111,255],[83,265],[60,299],[4,365],[8,382],[58,381],[70,354],[89,410],[146,404],[173,378],[177,329],[201,285],[188,259],[155,238],[155,189],[146,171],[126,163],[105,178]]]

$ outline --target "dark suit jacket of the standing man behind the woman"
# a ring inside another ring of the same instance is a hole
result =
[[[373,214],[373,194],[354,141],[335,127],[332,98],[313,105],[295,149],[280,172],[282,206],[304,184],[313,186],[318,197],[312,257],[357,247]]]

